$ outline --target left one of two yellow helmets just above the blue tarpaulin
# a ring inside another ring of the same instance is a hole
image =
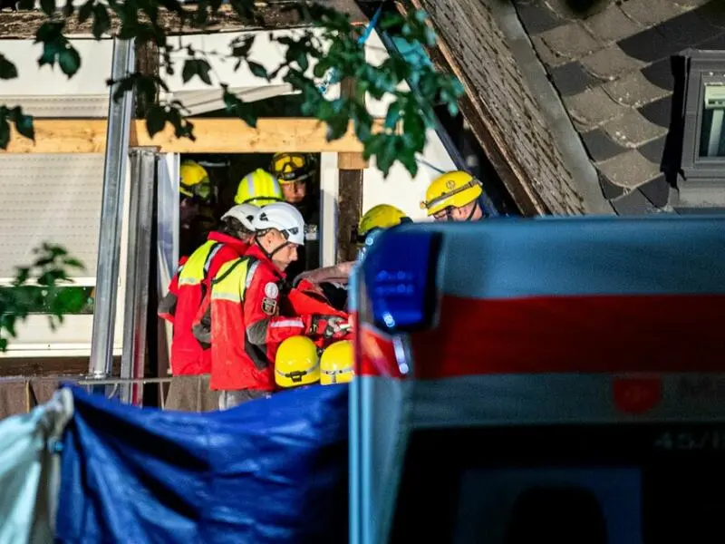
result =
[[[320,381],[320,358],[317,346],[307,336],[291,336],[277,349],[275,383],[280,387],[297,387]]]

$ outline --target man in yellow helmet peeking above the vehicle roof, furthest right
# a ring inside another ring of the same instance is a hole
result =
[[[456,170],[433,180],[420,208],[436,221],[478,221],[484,218],[481,182],[468,172]]]

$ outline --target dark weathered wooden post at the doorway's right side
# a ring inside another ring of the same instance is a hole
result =
[[[352,80],[343,81],[343,96],[351,96],[353,89]],[[351,233],[362,215],[362,175],[367,165],[362,160],[362,153],[339,153],[337,160],[337,168],[340,170],[337,196],[337,262],[344,262],[357,257],[357,247],[351,240]]]

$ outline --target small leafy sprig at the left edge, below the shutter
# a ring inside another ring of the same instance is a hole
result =
[[[66,314],[78,313],[87,299],[82,289],[69,289],[69,271],[82,270],[77,259],[51,244],[34,250],[35,261],[29,267],[16,268],[9,287],[0,287],[0,351],[7,348],[8,339],[15,337],[15,325],[37,308],[47,313],[53,328],[63,323]]]

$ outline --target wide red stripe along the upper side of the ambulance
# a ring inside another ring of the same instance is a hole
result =
[[[413,374],[719,372],[725,296],[444,296],[411,335]],[[358,374],[400,375],[387,335],[361,328]]]

